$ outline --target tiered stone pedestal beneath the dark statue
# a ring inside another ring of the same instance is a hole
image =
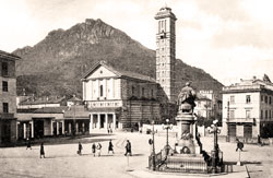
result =
[[[166,171],[207,173],[202,144],[197,137],[195,118],[192,114],[178,112],[176,117],[179,128],[175,153],[167,156]]]

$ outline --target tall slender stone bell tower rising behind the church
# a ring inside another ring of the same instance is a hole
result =
[[[162,8],[156,13],[156,82],[161,84],[168,100],[175,103],[176,66],[176,15],[170,8]]]

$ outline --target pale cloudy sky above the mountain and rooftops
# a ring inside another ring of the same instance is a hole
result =
[[[0,0],[0,50],[12,52],[100,19],[155,49],[162,7],[177,16],[176,57],[229,85],[266,73],[273,81],[272,0]]]

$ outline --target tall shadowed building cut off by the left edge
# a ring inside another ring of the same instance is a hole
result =
[[[16,141],[17,56],[0,50],[0,143]]]

